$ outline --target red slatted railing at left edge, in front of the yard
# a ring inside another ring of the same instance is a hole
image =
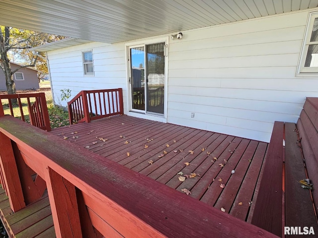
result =
[[[21,118],[26,121],[26,115],[23,112],[23,103],[21,99],[26,99],[27,109],[29,113],[30,124],[39,127],[43,130],[50,131],[50,119],[47,109],[45,93],[24,93],[24,94],[2,94],[0,95],[0,116],[4,116],[4,109],[2,103],[4,100],[8,101],[8,107],[10,115],[12,117]],[[16,99],[18,103],[18,111],[13,111],[14,105],[12,105],[11,99]]]

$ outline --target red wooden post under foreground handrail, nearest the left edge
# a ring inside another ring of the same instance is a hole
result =
[[[11,209],[13,212],[21,210],[25,207],[25,202],[11,140],[2,132],[0,132],[0,166]]]

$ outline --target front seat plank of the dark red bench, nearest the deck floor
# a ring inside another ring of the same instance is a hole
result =
[[[282,171],[284,122],[275,121],[251,223],[282,235]]]

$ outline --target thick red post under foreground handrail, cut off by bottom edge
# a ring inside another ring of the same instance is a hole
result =
[[[75,186],[50,167],[45,173],[56,237],[82,237]]]

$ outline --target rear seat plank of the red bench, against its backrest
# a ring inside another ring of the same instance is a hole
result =
[[[315,211],[313,209],[311,191],[298,183],[306,179],[306,172],[294,123],[285,124],[285,225],[314,227],[318,231]]]

